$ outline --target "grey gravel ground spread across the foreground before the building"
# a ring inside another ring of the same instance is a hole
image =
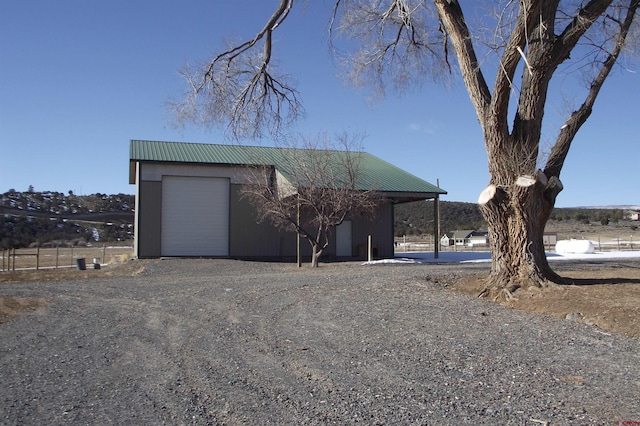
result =
[[[48,302],[0,325],[0,424],[640,422],[640,341],[447,290],[487,266],[135,262],[0,286]]]

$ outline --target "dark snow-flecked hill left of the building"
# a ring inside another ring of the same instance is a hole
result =
[[[128,194],[9,190],[0,195],[0,248],[131,241],[133,208]]]

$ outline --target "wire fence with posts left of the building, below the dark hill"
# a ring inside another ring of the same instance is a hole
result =
[[[99,268],[133,257],[131,246],[56,247],[2,250],[2,272],[27,269]],[[97,266],[96,266],[97,265]]]

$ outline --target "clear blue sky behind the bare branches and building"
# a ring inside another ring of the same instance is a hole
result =
[[[276,3],[0,0],[0,192],[33,185],[132,194],[129,140],[227,143],[222,130],[172,127],[165,102],[183,89],[180,67],[206,61],[225,38],[252,36]],[[365,133],[366,151],[439,181],[448,191],[443,200],[476,202],[488,183],[487,158],[461,82],[390,94],[371,106],[366,93],[337,77],[327,47],[329,4],[309,2],[275,36],[281,67],[304,101],[299,130]],[[605,83],[565,163],[558,207],[640,204],[640,74],[630,71]],[[575,96],[563,84],[563,95]],[[550,98],[549,127],[562,124],[564,105]]]

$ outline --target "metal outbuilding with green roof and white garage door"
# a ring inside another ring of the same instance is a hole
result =
[[[136,185],[135,255],[295,257],[296,234],[257,223],[252,205],[240,197],[252,167],[272,167],[287,179],[285,159],[290,155],[291,148],[132,140],[129,183]],[[332,155],[338,159],[344,152]],[[358,155],[357,188],[373,189],[386,202],[375,218],[349,218],[338,226],[325,255],[359,257],[371,235],[377,256],[393,257],[393,206],[438,200],[446,191],[371,154]],[[303,255],[310,255],[306,246]]]

